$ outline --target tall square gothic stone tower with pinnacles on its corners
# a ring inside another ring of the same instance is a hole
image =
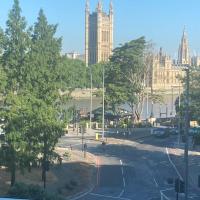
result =
[[[103,12],[99,1],[96,12],[90,14],[89,2],[85,8],[85,62],[92,65],[109,60],[113,50],[113,5],[109,14]]]

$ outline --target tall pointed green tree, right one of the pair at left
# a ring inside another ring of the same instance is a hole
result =
[[[52,159],[53,149],[58,138],[64,134],[64,121],[59,119],[60,108],[56,103],[61,98],[58,93],[61,38],[54,36],[56,30],[57,25],[49,25],[43,10],[40,10],[32,33],[28,89],[36,99],[31,132],[36,135],[40,145],[38,154],[42,154],[44,187],[46,187],[47,165]]]

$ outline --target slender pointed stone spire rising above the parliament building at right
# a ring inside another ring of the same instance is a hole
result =
[[[179,65],[190,64],[189,45],[185,28],[183,30],[183,36],[178,51],[178,64]]]

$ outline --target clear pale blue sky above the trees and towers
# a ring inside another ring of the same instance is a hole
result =
[[[98,0],[90,0],[93,12]],[[109,10],[110,0],[102,0]],[[5,29],[13,0],[0,0],[0,27]],[[85,0],[20,0],[22,15],[29,26],[42,8],[49,23],[58,24],[57,36],[63,38],[62,52],[84,53]],[[177,56],[183,28],[191,54],[200,55],[200,0],[113,0],[114,47],[140,36]]]

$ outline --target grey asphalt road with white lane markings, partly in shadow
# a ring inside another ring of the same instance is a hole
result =
[[[161,193],[175,199],[174,186],[168,184],[167,179],[179,175],[166,149],[174,142],[174,136],[165,139],[149,137],[139,141],[117,140],[114,144],[107,144],[105,149],[90,139],[88,137],[85,141],[88,151],[96,155],[96,184],[73,200],[160,200]],[[60,141],[60,146],[71,144],[73,148],[81,149],[81,143],[80,138],[66,136]],[[192,190],[191,193],[191,199],[200,199],[198,191]]]

